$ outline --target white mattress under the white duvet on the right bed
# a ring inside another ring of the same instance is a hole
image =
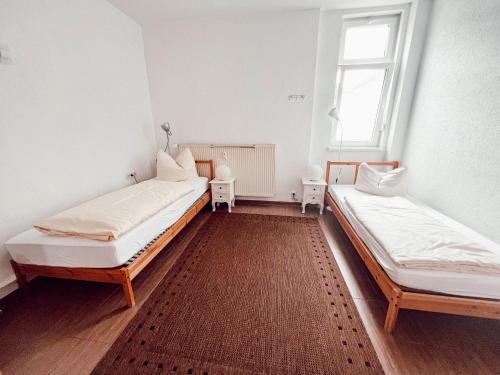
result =
[[[356,233],[366,244],[377,262],[384,268],[389,277],[399,285],[438,293],[500,299],[500,277],[497,275],[450,272],[442,270],[408,269],[398,266],[365,227],[349,211],[345,197],[366,195],[354,189],[353,185],[331,185],[329,192],[347,217]],[[408,197],[413,203],[432,217],[449,225],[456,231],[485,246],[497,246],[489,239],[474,232],[470,228]]]

